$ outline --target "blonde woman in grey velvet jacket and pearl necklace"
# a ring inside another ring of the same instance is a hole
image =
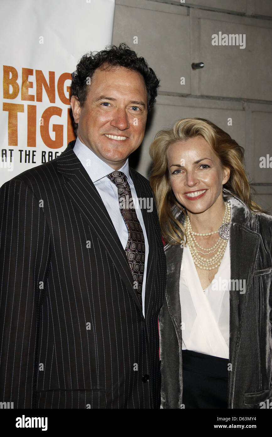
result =
[[[269,408],[272,217],[251,199],[244,149],[185,118],[150,154],[167,260],[162,408]]]

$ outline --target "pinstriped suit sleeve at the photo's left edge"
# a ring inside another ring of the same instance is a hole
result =
[[[35,408],[39,311],[50,261],[40,202],[24,181],[0,188],[0,401]]]

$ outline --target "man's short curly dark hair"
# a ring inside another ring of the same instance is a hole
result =
[[[82,107],[88,94],[87,78],[91,80],[97,68],[108,66],[125,67],[142,75],[148,95],[147,109],[148,112],[151,111],[156,101],[159,79],[145,59],[142,56],[138,57],[134,50],[131,50],[124,42],[119,47],[108,45],[105,50],[83,55],[76,66],[76,71],[72,73],[71,97],[76,96]]]

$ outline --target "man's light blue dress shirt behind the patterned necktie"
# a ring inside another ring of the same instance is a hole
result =
[[[119,198],[117,186],[113,184],[110,179],[107,178],[107,174],[114,171],[107,163],[102,161],[89,147],[85,146],[79,138],[77,137],[75,146],[73,147],[74,153],[78,157],[79,161],[82,163],[86,172],[89,174],[96,190],[98,191],[107,212],[110,215],[111,221],[113,222],[114,228],[116,229],[117,235],[121,241],[123,248],[125,249],[127,245],[128,232],[127,226],[121,215],[119,207]],[[133,198],[135,211],[138,220],[141,224],[143,234],[145,237],[145,271],[142,284],[142,309],[143,315],[145,316],[145,283],[146,283],[146,271],[147,271],[147,260],[148,260],[148,239],[145,231],[145,223],[141,213],[141,208],[139,205],[136,190],[134,188],[133,180],[129,174],[128,159],[124,165],[118,170],[122,171],[128,180],[129,186],[131,188],[131,195]]]

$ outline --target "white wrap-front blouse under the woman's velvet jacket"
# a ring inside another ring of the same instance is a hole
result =
[[[183,248],[179,281],[182,349],[229,357],[230,246],[211,284],[203,290],[189,247]]]

